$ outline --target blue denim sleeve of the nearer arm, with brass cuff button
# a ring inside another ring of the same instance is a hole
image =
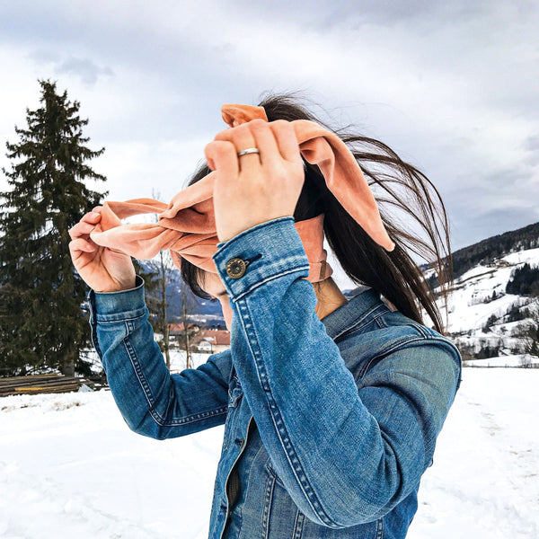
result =
[[[234,258],[248,264],[242,277],[234,264],[233,277],[226,271]],[[357,384],[314,312],[292,216],[218,243],[213,259],[232,300],[234,368],[296,506],[332,528],[384,516],[431,462],[455,398],[458,351],[433,331],[391,349]]]

